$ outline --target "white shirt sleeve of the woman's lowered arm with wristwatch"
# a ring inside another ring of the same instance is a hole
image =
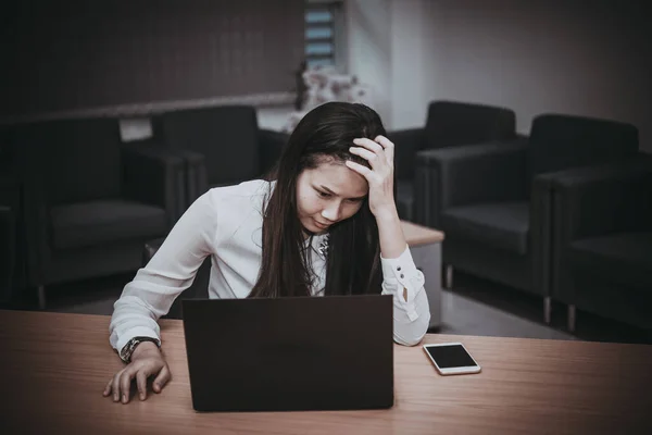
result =
[[[114,303],[110,341],[120,351],[137,336],[156,338],[159,318],[190,287],[203,260],[213,252],[217,228],[215,194],[197,199],[172,228],[149,263],[140,269]]]

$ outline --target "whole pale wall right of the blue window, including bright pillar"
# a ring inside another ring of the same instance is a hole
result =
[[[349,71],[376,88],[388,128],[454,99],[512,108],[522,133],[552,111],[629,122],[652,151],[644,2],[579,3],[346,0]]]

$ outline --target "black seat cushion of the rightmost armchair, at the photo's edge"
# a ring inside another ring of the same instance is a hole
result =
[[[627,287],[652,290],[652,232],[574,241],[568,248],[568,261],[574,268]]]

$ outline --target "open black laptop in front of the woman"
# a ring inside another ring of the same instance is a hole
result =
[[[391,295],[185,299],[181,309],[197,411],[393,405]]]

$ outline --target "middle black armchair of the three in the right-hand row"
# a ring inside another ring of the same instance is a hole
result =
[[[429,191],[429,220],[447,235],[447,285],[452,270],[543,298],[550,322],[552,181],[574,169],[638,152],[629,124],[542,114],[529,138],[418,153],[417,189]]]

